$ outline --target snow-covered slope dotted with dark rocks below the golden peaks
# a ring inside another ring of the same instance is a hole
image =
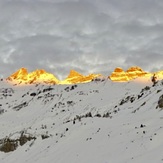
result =
[[[0,81],[0,163],[163,162],[163,82]]]

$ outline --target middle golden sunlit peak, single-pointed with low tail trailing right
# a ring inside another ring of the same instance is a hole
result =
[[[100,74],[90,74],[88,76],[84,76],[84,75],[76,72],[75,70],[71,70],[68,77],[64,81],[62,81],[61,84],[86,83],[86,82],[92,81],[93,79],[95,79],[99,76],[101,76],[101,75]]]

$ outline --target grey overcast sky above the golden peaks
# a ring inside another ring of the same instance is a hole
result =
[[[163,69],[163,0],[0,0],[0,65],[60,79]]]

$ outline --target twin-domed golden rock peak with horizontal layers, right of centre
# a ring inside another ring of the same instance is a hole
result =
[[[114,72],[109,76],[112,81],[126,82],[133,80],[137,77],[152,76],[151,73],[143,71],[140,67],[130,67],[127,71],[122,68],[116,68]]]

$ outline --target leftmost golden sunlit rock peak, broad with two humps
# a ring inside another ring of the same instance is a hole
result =
[[[50,73],[47,73],[45,70],[36,70],[31,73],[28,73],[26,68],[21,68],[10,77],[7,78],[8,81],[15,84],[58,84],[59,80]]]

